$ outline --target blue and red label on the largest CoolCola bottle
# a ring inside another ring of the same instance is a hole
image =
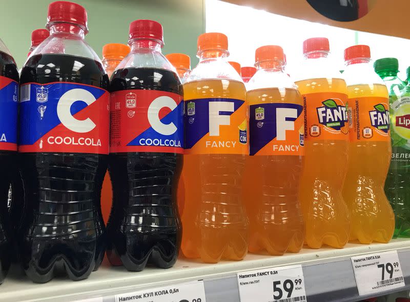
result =
[[[108,154],[109,93],[86,84],[20,86],[18,152]]]

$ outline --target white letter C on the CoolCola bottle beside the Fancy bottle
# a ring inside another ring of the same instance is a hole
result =
[[[148,107],[148,121],[150,122],[152,128],[159,134],[172,135],[178,129],[173,122],[170,122],[169,124],[164,124],[161,122],[158,114],[163,107],[168,107],[171,111],[173,111],[177,107],[177,104],[169,96],[157,97]]]

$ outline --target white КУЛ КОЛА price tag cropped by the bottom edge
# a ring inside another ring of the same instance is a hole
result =
[[[115,302],[206,302],[203,281],[115,295]]]

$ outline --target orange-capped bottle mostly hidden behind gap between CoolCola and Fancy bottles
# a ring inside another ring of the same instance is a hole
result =
[[[185,83],[187,78],[191,74],[191,58],[189,55],[183,53],[170,53],[165,56],[168,61],[175,67],[176,72],[181,80],[181,83]],[[179,177],[178,189],[177,189],[177,201],[179,216],[182,215],[183,207],[185,205],[185,182],[183,181],[183,166],[181,176]]]

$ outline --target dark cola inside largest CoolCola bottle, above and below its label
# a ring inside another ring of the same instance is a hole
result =
[[[71,55],[35,55],[20,77],[20,84],[59,81],[109,89],[101,63]],[[87,278],[106,248],[100,195],[108,156],[20,153],[19,159],[25,192],[19,241],[26,274],[43,283],[64,267],[71,279]]]

